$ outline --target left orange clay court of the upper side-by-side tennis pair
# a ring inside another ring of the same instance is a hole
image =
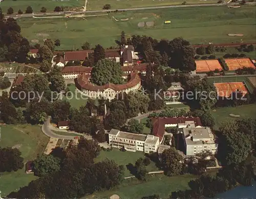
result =
[[[222,70],[221,64],[217,59],[213,60],[196,60],[197,72],[209,72],[216,69]]]

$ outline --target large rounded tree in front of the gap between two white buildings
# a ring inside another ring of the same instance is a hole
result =
[[[164,150],[161,155],[161,165],[164,174],[168,176],[180,174],[182,171],[182,161],[183,157],[174,147]]]

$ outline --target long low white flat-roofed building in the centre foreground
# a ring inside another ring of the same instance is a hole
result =
[[[128,151],[156,152],[159,138],[153,135],[132,134],[130,132],[111,129],[108,133],[109,144],[114,148],[124,148]]]

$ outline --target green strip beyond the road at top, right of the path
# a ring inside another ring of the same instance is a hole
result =
[[[168,5],[181,5],[183,0],[165,0],[165,1],[153,1],[153,0],[103,0],[88,1],[88,10],[101,10],[105,4],[110,4],[111,9],[121,8],[139,8],[139,7],[151,7],[151,6],[168,6]],[[217,3],[215,0],[199,1],[199,0],[187,0],[186,4],[212,4]]]

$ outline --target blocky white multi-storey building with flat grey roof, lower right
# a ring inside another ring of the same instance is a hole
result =
[[[187,156],[195,156],[205,150],[217,153],[218,143],[209,127],[182,128]]]

